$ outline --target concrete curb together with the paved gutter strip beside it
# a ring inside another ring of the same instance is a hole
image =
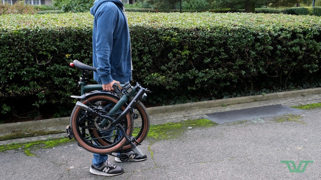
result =
[[[240,110],[268,105],[296,106],[318,102],[321,102],[321,88],[152,107],[147,108],[147,110],[149,115],[151,116],[151,124],[163,124],[168,122],[178,122],[187,119],[207,119],[208,114],[215,112]],[[29,129],[45,131],[65,131],[65,127],[69,125],[69,123],[69,117],[65,117],[20,123],[0,124],[0,135],[10,134],[12,131]],[[0,141],[0,145],[10,143],[23,143],[35,140],[45,140],[49,136],[56,138],[66,136],[66,134],[62,133],[56,135]]]

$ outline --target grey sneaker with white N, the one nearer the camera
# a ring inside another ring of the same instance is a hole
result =
[[[95,175],[116,176],[122,174],[124,172],[124,169],[106,160],[104,164],[99,168],[96,168],[93,164],[91,164],[91,168],[89,171],[91,172],[91,174]]]

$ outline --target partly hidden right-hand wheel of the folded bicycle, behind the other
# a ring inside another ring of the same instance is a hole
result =
[[[143,140],[146,138],[149,127],[150,127],[150,117],[148,115],[146,107],[143,105],[142,102],[139,102],[136,107],[134,107],[134,111],[132,112],[133,115],[133,136],[135,137],[138,143],[142,143]],[[134,142],[138,145],[137,142]],[[124,147],[121,148],[123,151],[127,151],[132,149],[132,146],[128,143]],[[123,152],[119,151],[119,152]]]

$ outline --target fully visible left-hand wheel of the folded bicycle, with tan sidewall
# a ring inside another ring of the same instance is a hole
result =
[[[112,95],[93,95],[81,102],[93,110],[99,109],[103,113],[108,113],[118,102],[119,98]],[[124,110],[121,107],[117,113],[111,117],[116,119]],[[124,135],[118,127],[111,127],[111,122],[106,123],[104,127],[99,127],[103,118],[96,117],[80,107],[75,106],[70,116],[70,127],[77,143],[87,151],[106,154],[115,152],[126,143]],[[132,115],[128,113],[121,120],[120,125],[125,129],[126,134],[130,137],[133,132]]]

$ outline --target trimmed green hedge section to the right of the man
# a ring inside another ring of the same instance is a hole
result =
[[[240,82],[241,86],[247,86],[246,81],[260,83],[258,77],[282,84],[299,71],[309,78],[319,70],[321,22],[317,17],[161,13],[132,14],[131,18],[133,54],[140,60],[138,69],[144,68],[137,76],[171,91],[217,94],[227,87],[237,88]]]

